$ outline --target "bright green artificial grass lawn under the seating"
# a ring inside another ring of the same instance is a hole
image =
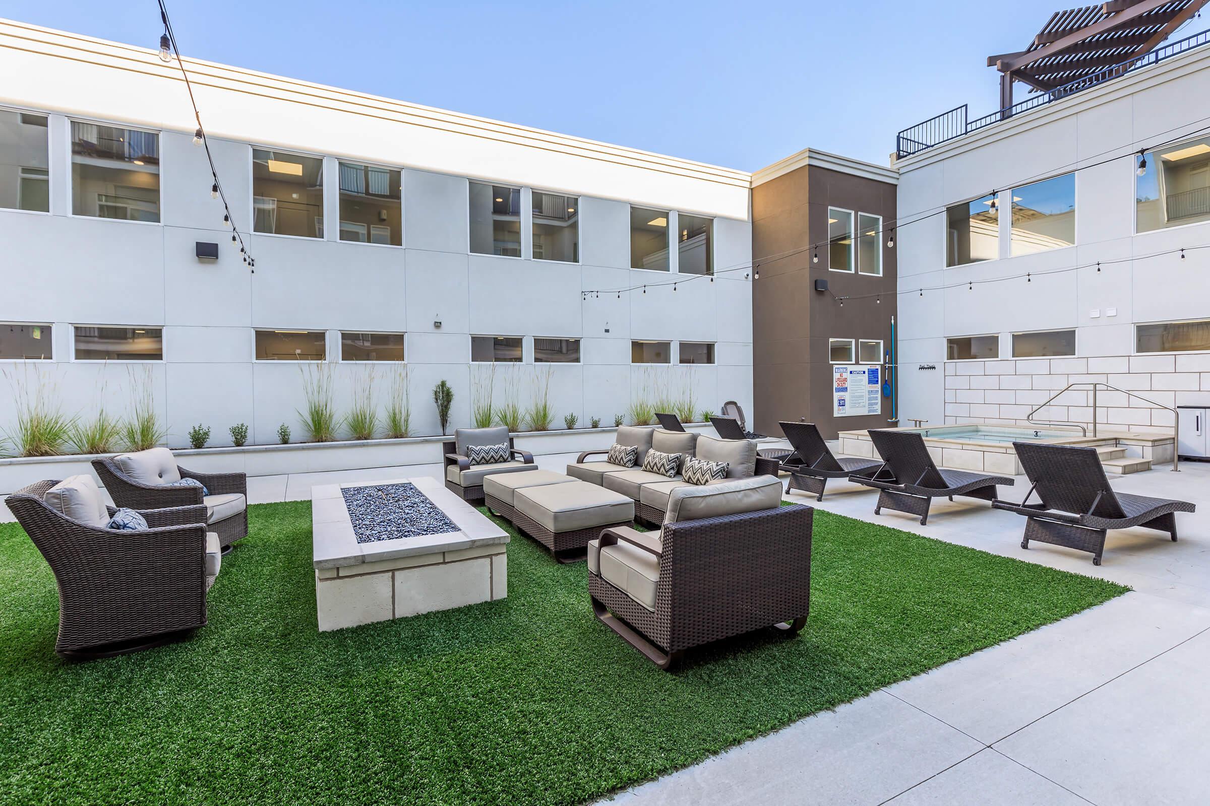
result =
[[[1127,590],[817,510],[802,633],[669,674],[528,538],[505,601],[318,633],[310,503],[250,534],[192,638],[69,663],[50,568],[0,524],[0,802],[577,802]]]

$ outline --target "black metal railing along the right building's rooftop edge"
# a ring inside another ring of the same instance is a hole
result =
[[[1021,112],[1031,110],[1036,106],[1043,106],[1051,102],[1061,100],[1062,98],[1073,95],[1082,89],[1088,89],[1089,87],[1095,87],[1118,76],[1134,73],[1141,68],[1158,64],[1164,59],[1170,59],[1174,56],[1180,56],[1181,53],[1206,44],[1210,44],[1210,30],[1186,36],[1185,39],[1158,47],[1146,56],[1114,64],[1113,66],[1105,68],[1104,70],[1099,70],[1091,75],[1084,76],[1083,79],[1077,79],[1076,81],[1055,87],[1049,92],[1039,92],[1031,98],[1026,98],[1022,102],[1013,104],[1012,106],[1006,106],[1004,109],[996,110],[990,115],[984,115],[983,117],[976,117],[974,120],[968,120],[967,105],[963,104],[962,106],[951,109],[947,112],[941,112],[935,117],[930,117],[927,121],[899,132],[895,138],[895,155],[903,158],[914,153],[920,153],[926,149],[932,149],[934,145],[940,145],[943,143],[947,143],[949,140],[957,139],[964,134],[981,129],[985,126],[991,126],[997,121],[1008,120],[1014,115],[1020,115]]]

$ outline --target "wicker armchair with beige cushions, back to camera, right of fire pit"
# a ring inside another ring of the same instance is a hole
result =
[[[780,506],[776,477],[672,494],[659,532],[609,528],[588,544],[597,617],[661,668],[686,650],[807,621],[814,510]]]

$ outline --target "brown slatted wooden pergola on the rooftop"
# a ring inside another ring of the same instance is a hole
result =
[[[1013,105],[1013,82],[1050,92],[1146,56],[1210,0],[1116,0],[1056,11],[1024,51],[987,57],[999,70],[999,105]]]

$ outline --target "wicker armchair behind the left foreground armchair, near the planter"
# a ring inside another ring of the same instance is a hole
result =
[[[203,495],[201,487],[173,487],[137,480],[119,463],[119,459],[125,457],[151,453],[157,454],[155,458],[163,458],[167,454],[168,458],[162,459],[165,462],[172,457],[167,448],[152,448],[151,451],[92,460],[93,470],[97,471],[100,483],[109,491],[115,504],[133,510],[203,505],[208,515],[202,521],[207,523],[211,532],[219,535],[224,552],[229,551],[236,540],[248,537],[247,474],[197,472],[183,468],[175,464],[175,459],[171,459],[175,472],[182,479],[195,479],[202,482],[208,493]]]

